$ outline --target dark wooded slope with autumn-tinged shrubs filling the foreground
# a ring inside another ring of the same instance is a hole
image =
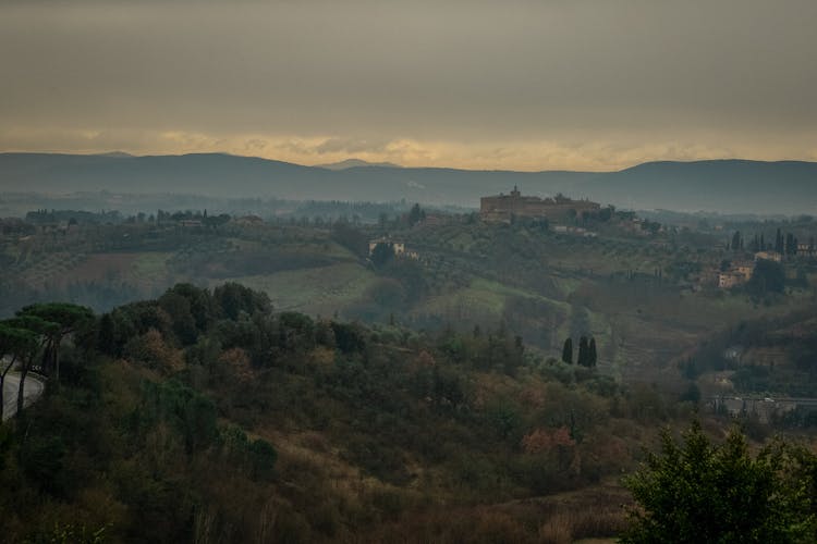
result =
[[[0,343],[48,376],[0,426],[10,542],[613,537],[621,474],[698,409],[502,326],[313,319],[229,282],[29,306]],[[703,420],[717,440],[730,421]]]

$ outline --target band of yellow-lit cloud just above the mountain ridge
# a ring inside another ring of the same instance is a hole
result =
[[[49,127],[0,128],[0,149],[10,151],[103,152],[122,150],[134,154],[229,152],[267,159],[321,164],[354,156],[370,162],[394,162],[406,166],[440,166],[473,170],[619,170],[654,160],[702,160],[754,158],[759,160],[815,159],[817,149],[780,139],[757,144],[751,138],[733,139],[723,146],[717,138],[663,139],[643,143],[639,138],[597,140],[514,140],[462,143],[400,138],[366,148],[339,145],[338,136],[304,137],[277,134],[207,134],[186,131],[102,131]],[[359,144],[359,143],[358,143]],[[356,152],[351,153],[351,149]]]

